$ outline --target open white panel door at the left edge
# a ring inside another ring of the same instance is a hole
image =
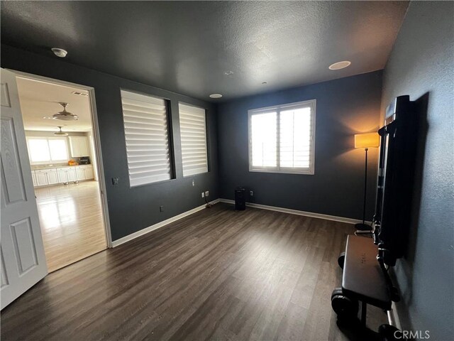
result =
[[[5,308],[48,274],[16,76],[1,69],[1,286]]]

